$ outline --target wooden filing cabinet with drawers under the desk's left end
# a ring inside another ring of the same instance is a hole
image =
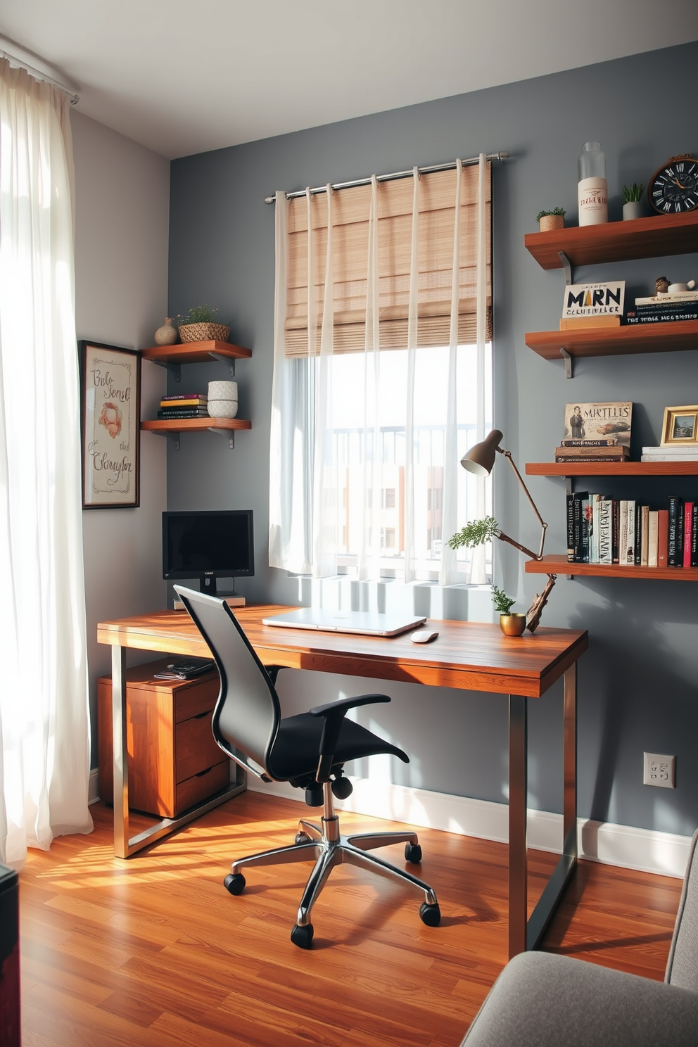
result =
[[[225,788],[230,760],[211,733],[219,676],[154,680],[172,659],[127,671],[129,806],[177,818]],[[112,682],[97,681],[99,798],[114,801]]]

